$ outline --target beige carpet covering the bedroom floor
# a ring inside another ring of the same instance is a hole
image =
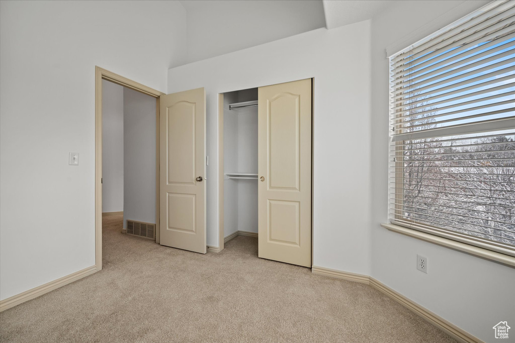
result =
[[[258,258],[122,234],[105,217],[104,269],[0,314],[2,342],[454,342],[368,285]],[[65,256],[63,256],[65,258]]]

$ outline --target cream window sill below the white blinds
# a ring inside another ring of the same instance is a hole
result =
[[[479,248],[470,244],[454,241],[453,239],[440,237],[430,233],[408,229],[399,225],[383,223],[381,226],[393,232],[402,233],[403,235],[422,239],[422,241],[438,244],[442,247],[463,251],[480,258],[492,260],[510,267],[515,267],[515,258],[500,252],[491,251],[485,248]]]

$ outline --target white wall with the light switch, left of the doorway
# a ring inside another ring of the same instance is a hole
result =
[[[178,2],[0,2],[0,299],[95,264],[95,65],[166,92],[184,51]]]

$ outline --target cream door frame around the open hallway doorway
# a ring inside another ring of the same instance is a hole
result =
[[[159,97],[164,93],[95,66],[95,265],[102,270],[102,80],[156,98],[156,243],[159,244]]]

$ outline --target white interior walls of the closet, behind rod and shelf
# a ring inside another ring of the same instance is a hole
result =
[[[258,107],[229,110],[234,102],[258,99],[258,89],[224,94],[224,173],[258,173]],[[224,237],[258,232],[258,181],[224,180]]]

